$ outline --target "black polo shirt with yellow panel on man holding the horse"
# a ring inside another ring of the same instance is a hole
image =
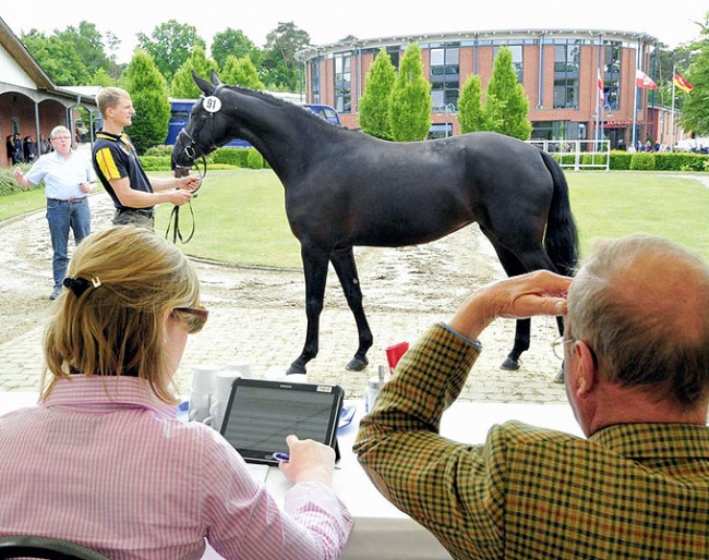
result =
[[[144,193],[152,193],[153,187],[151,182],[137,159],[137,154],[128,134],[122,133],[120,136],[111,134],[110,132],[98,131],[96,133],[96,142],[94,143],[94,150],[92,154],[92,161],[96,175],[100,180],[104,188],[113,199],[113,205],[119,210],[132,210],[128,206],[123,206],[113,192],[113,187],[109,183],[111,179],[123,179],[128,176],[131,182],[131,188],[134,191],[143,191]],[[141,208],[142,210],[152,210],[149,208]]]

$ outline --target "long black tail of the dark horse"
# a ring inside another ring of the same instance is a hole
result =
[[[578,231],[568,198],[568,184],[561,166],[543,150],[542,160],[554,181],[552,204],[546,219],[544,248],[558,273],[573,276],[578,264]]]

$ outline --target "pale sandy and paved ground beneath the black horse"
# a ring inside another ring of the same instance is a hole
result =
[[[91,198],[94,231],[108,227],[112,216],[106,194]],[[3,264],[0,267],[0,352],[22,348],[32,336],[36,361],[41,360],[40,336],[53,305],[51,248],[44,211],[0,223]],[[73,240],[72,240],[73,243]],[[189,245],[184,245],[189,253]],[[320,353],[308,366],[312,380],[338,382],[349,397],[361,397],[366,377],[386,364],[384,349],[400,341],[413,342],[430,324],[448,318],[476,287],[503,278],[504,272],[489,242],[477,226],[465,228],[434,243],[405,248],[356,249],[364,305],[374,333],[370,370],[347,372],[345,365],[357,346],[354,322],[333,270],[328,278],[321,320]],[[203,333],[191,339],[179,377],[209,361],[224,365],[248,361],[255,376],[285,368],[304,341],[304,282],[302,272],[247,269],[195,260],[211,318]],[[532,322],[532,349],[524,354],[518,372],[503,372],[500,364],[512,348],[514,321],[496,321],[482,337],[485,351],[473,368],[464,397],[469,400],[563,402],[563,387],[553,384],[560,363],[550,342],[557,336],[553,319]],[[39,348],[35,348],[39,346]],[[0,355],[2,358],[2,355]],[[2,377],[14,374],[8,361]],[[36,364],[33,366],[39,372]],[[27,376],[23,377],[25,379]],[[15,382],[12,388],[33,386]]]

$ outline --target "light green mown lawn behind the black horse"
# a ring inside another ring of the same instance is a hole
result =
[[[670,238],[709,261],[709,187],[701,182],[632,171],[568,171],[566,176],[581,252],[594,239],[641,231]],[[0,220],[43,206],[41,190],[4,196]],[[242,265],[300,267],[300,247],[286,220],[284,188],[272,171],[208,171],[192,208],[196,231],[192,241],[181,245],[185,253]],[[170,209],[169,205],[158,208],[156,230],[161,234]],[[188,235],[192,221],[187,206],[180,223]]]

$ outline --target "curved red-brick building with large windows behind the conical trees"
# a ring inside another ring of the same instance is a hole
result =
[[[671,144],[672,138],[683,136],[656,94],[635,87],[636,68],[654,75],[652,54],[658,39],[634,32],[494,31],[312,46],[297,54],[305,73],[308,102],[332,105],[346,126],[359,127],[358,101],[377,53],[386,49],[398,68],[410,42],[419,44],[424,76],[432,85],[432,137],[459,133],[459,92],[470,74],[480,75],[484,90],[503,45],[512,50],[518,80],[530,100],[532,138],[610,139],[613,147],[623,147],[634,137]]]

